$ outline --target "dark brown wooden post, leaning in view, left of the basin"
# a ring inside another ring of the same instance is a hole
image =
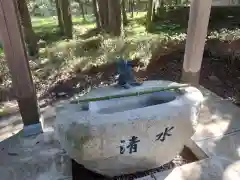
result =
[[[37,97],[15,0],[0,0],[0,33],[24,126],[39,124]]]

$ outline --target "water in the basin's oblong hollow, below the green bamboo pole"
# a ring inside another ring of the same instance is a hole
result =
[[[89,111],[101,114],[123,112],[168,103],[175,100],[177,96],[179,96],[179,94],[176,92],[164,91],[134,97],[124,97],[105,101],[90,102]]]

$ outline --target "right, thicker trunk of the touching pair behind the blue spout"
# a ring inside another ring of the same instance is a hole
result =
[[[121,5],[120,0],[108,0],[110,33],[114,36],[121,35]]]

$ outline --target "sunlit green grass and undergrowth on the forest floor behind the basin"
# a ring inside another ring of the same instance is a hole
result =
[[[174,51],[186,39],[187,21],[182,17],[178,21],[175,16],[172,18],[164,14],[164,18],[156,21],[152,32],[148,33],[145,30],[145,15],[145,12],[139,12],[134,14],[133,19],[129,16],[129,24],[120,38],[92,31],[95,28],[93,16],[87,16],[86,20],[73,17],[73,40],[60,36],[56,17],[33,17],[34,31],[41,39],[40,57],[30,61],[38,92],[91,67],[111,63],[117,56],[140,59],[147,66],[154,54],[161,56]],[[213,39],[226,40],[230,36],[236,39],[239,35],[239,29],[214,29],[209,32],[209,38]],[[9,77],[4,82],[9,82]]]

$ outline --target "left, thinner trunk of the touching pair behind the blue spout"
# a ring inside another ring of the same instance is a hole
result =
[[[109,32],[108,0],[98,0],[101,28]]]

